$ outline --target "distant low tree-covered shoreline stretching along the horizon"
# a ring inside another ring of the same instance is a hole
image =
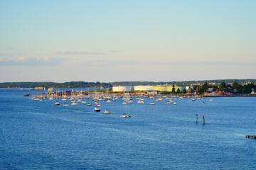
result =
[[[46,88],[89,88],[89,87],[112,87],[112,86],[144,86],[144,85],[164,85],[164,84],[184,84],[184,85],[201,85],[201,84],[255,84],[256,79],[216,79],[216,80],[192,80],[192,81],[114,81],[114,82],[85,82],[85,81],[70,81],[65,83],[56,82],[4,82],[0,83],[0,88],[35,88],[43,86]]]

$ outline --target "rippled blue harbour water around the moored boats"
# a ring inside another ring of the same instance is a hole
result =
[[[132,118],[120,118],[121,98],[100,101],[95,113],[86,103],[55,106],[24,93],[31,91],[0,89],[0,169],[255,169],[256,140],[245,138],[256,135],[253,97],[178,105],[134,98]]]

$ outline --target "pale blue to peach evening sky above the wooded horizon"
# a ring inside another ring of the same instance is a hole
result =
[[[0,0],[0,82],[256,79],[255,0]]]

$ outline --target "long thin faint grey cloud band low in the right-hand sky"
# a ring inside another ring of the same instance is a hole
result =
[[[223,66],[250,66],[256,62],[151,62],[154,65],[223,65]]]

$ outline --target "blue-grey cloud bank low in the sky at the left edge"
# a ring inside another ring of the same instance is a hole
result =
[[[56,57],[11,57],[0,59],[0,66],[59,66],[63,60]]]

